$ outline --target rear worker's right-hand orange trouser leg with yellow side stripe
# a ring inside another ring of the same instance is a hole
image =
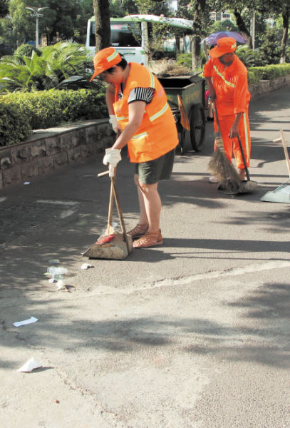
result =
[[[246,165],[249,167],[250,158],[251,158],[251,136],[249,130],[249,116],[248,113],[243,113],[241,120],[239,121],[239,138],[242,143],[242,149],[244,152],[244,158],[246,160]],[[237,138],[234,138],[234,158],[237,162],[237,168],[244,171],[244,161],[242,158],[242,153],[239,149],[239,141]]]

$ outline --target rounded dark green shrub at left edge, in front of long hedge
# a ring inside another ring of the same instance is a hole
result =
[[[1,100],[0,117],[0,146],[20,143],[31,136],[29,117],[23,108]]]

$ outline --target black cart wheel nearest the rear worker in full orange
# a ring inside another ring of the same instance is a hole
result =
[[[190,141],[195,151],[201,151],[205,137],[205,114],[202,104],[190,110]]]

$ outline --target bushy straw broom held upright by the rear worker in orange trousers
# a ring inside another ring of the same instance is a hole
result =
[[[237,193],[241,185],[241,180],[239,179],[236,168],[229,162],[226,153],[224,153],[224,141],[219,129],[219,118],[217,116],[217,106],[215,102],[214,113],[217,120],[217,132],[214,133],[216,151],[212,154],[208,168],[210,173],[217,177],[221,188],[226,193]]]

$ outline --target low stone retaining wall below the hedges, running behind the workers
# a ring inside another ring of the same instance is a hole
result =
[[[250,85],[252,98],[288,86],[290,75]],[[0,189],[100,153],[115,141],[108,119],[38,130],[24,143],[0,148]]]

